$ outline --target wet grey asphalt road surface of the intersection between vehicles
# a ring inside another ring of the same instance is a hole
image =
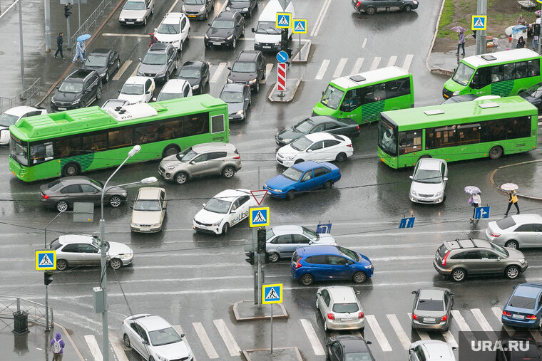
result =
[[[149,31],[158,25],[163,14],[173,1],[158,2],[155,14],[148,26],[121,27],[113,15],[88,50],[98,47],[117,48],[121,61],[132,61],[118,80],[103,85],[103,98],[116,98],[122,84],[135,70],[138,58],[143,57]],[[298,17],[309,20],[309,33],[322,25],[312,38],[313,51],[307,65],[292,65],[288,77],[301,77],[303,82],[295,100],[287,105],[277,105],[266,100],[266,94],[276,78],[274,54],[267,54],[267,63],[273,64],[267,73],[267,83],[260,94],[253,95],[252,110],[245,122],[230,125],[230,142],[242,155],[242,170],[232,179],[199,179],[183,186],[160,181],[160,187],[168,192],[170,204],[164,231],[154,235],[131,234],[129,216],[131,209],[123,204],[118,209],[106,208],[106,232],[108,240],[131,246],[135,253],[133,266],[108,272],[109,323],[111,333],[119,339],[121,320],[133,313],[157,313],[168,318],[174,325],[181,325],[193,347],[198,360],[208,359],[208,346],[201,341],[195,326],[201,323],[212,342],[220,360],[238,360],[235,345],[223,341],[216,320],[224,320],[235,342],[241,349],[269,347],[269,325],[267,322],[235,323],[231,306],[238,300],[252,298],[252,266],[245,262],[243,242],[250,237],[247,222],[235,226],[227,236],[195,234],[191,229],[194,214],[205,203],[223,189],[260,189],[266,179],[283,171],[275,162],[276,145],[273,139],[281,127],[292,125],[297,117],[310,115],[312,106],[319,99],[327,82],[337,76],[347,75],[359,65],[361,71],[387,66],[395,58],[402,66],[411,58],[409,70],[414,74],[416,105],[441,102],[441,87],[444,78],[426,71],[424,60],[431,42],[438,4],[424,3],[411,14],[377,14],[359,16],[352,12],[349,1],[332,1],[327,11],[320,11],[324,1],[295,2]],[[208,61],[211,76],[220,63],[230,65],[242,48],[252,48],[252,33],[257,13],[264,8],[260,3],[252,19],[247,19],[246,39],[238,42],[235,51],[203,47],[203,34],[208,21],[192,21],[193,38],[184,48],[181,63],[188,60]],[[217,2],[213,16],[223,6]],[[175,11],[180,4],[175,5]],[[210,18],[212,19],[213,16]],[[62,18],[63,19],[63,18]],[[313,25],[314,24],[314,25]],[[121,36],[121,34],[140,35]],[[307,34],[310,35],[310,34]],[[308,38],[309,36],[302,36]],[[365,40],[367,39],[367,41]],[[411,56],[409,56],[411,55]],[[344,69],[337,64],[346,58]],[[378,58],[378,61],[377,61]],[[322,63],[329,60],[322,74]],[[38,71],[38,69],[34,69]],[[319,74],[321,76],[319,76]],[[227,71],[211,83],[209,93],[220,93]],[[158,91],[155,92],[158,95]],[[499,319],[492,307],[502,307],[508,298],[511,286],[523,281],[542,281],[542,251],[526,251],[529,268],[518,281],[503,278],[478,278],[461,284],[441,278],[432,266],[434,251],[446,239],[462,237],[484,238],[485,221],[471,224],[471,208],[466,203],[463,187],[474,184],[482,189],[484,204],[491,205],[491,218],[497,219],[506,206],[506,199],[491,189],[489,174],[503,164],[540,159],[541,150],[528,154],[504,157],[491,162],[479,159],[449,164],[447,200],[438,206],[419,206],[408,199],[409,174],[411,169],[394,171],[377,159],[375,125],[364,125],[362,136],[354,140],[354,156],[339,164],[342,179],[326,192],[313,192],[297,197],[291,202],[265,199],[270,206],[272,224],[302,224],[315,227],[319,222],[332,222],[332,234],[341,246],[364,253],[375,266],[373,278],[361,286],[359,298],[366,315],[374,315],[384,339],[378,335],[374,324],[366,327],[364,336],[372,340],[372,350],[378,360],[404,360],[406,350],[401,343],[389,315],[396,315],[409,340],[419,340],[423,334],[411,332],[409,316],[411,291],[422,286],[451,288],[456,294],[454,308],[463,315],[472,330],[481,325],[471,310],[479,308],[494,330],[500,330]],[[0,150],[7,169],[7,150]],[[158,176],[158,163],[132,164],[126,166],[115,177],[115,182],[126,183],[150,176]],[[259,169],[259,172],[258,172]],[[523,182],[536,182],[537,168],[533,164],[523,168]],[[258,174],[259,173],[259,174]],[[105,180],[111,169],[87,174]],[[258,178],[260,183],[258,184]],[[0,234],[0,293],[20,295],[43,302],[44,286],[41,273],[34,271],[33,252],[44,245],[44,226],[56,212],[42,209],[37,198],[40,182],[24,184],[9,172],[0,176],[0,214],[4,231]],[[129,188],[130,200],[136,196],[137,188]],[[130,203],[130,202],[128,202]],[[522,211],[539,212],[541,205],[521,201]],[[69,215],[59,217],[49,226],[48,239],[63,233],[97,234],[98,211],[93,224],[74,224]],[[416,216],[414,229],[399,230],[399,219]],[[322,319],[315,310],[315,291],[321,284],[300,286],[292,281],[287,261],[268,265],[265,268],[267,283],[283,283],[285,286],[285,308],[289,320],[275,322],[275,347],[297,346],[305,360],[323,360],[307,336],[300,320],[309,320],[315,329],[317,340],[324,345]],[[74,330],[73,338],[81,346],[83,355],[90,357],[83,335],[94,335],[101,344],[101,315],[93,313],[91,288],[98,285],[98,268],[79,268],[56,273],[49,287],[49,296],[56,319]],[[120,282],[120,283],[119,283]],[[337,284],[348,285],[349,282]],[[121,289],[122,286],[122,289]],[[451,335],[459,340],[459,323],[451,323]],[[540,337],[540,334],[538,334]],[[430,338],[444,340],[437,333]],[[384,340],[389,343],[388,350]],[[229,347],[229,348],[228,348]],[[138,360],[137,355],[126,351],[129,360]]]

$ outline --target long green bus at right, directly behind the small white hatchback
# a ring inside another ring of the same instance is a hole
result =
[[[383,112],[378,156],[392,168],[423,157],[456,160],[536,148],[538,110],[519,96]]]

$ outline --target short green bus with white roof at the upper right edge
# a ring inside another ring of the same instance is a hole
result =
[[[454,95],[518,95],[540,83],[541,56],[522,48],[469,56],[461,60],[454,75],[444,83],[442,96]]]

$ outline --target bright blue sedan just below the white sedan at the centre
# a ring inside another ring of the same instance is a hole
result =
[[[329,189],[339,179],[341,171],[333,164],[307,161],[297,163],[277,177],[272,177],[263,188],[267,189],[271,197],[294,199],[297,193]]]

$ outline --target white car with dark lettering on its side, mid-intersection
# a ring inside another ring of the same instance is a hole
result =
[[[193,229],[211,234],[227,234],[230,227],[248,217],[248,209],[257,203],[248,189],[226,189],[203,204],[194,216]]]

